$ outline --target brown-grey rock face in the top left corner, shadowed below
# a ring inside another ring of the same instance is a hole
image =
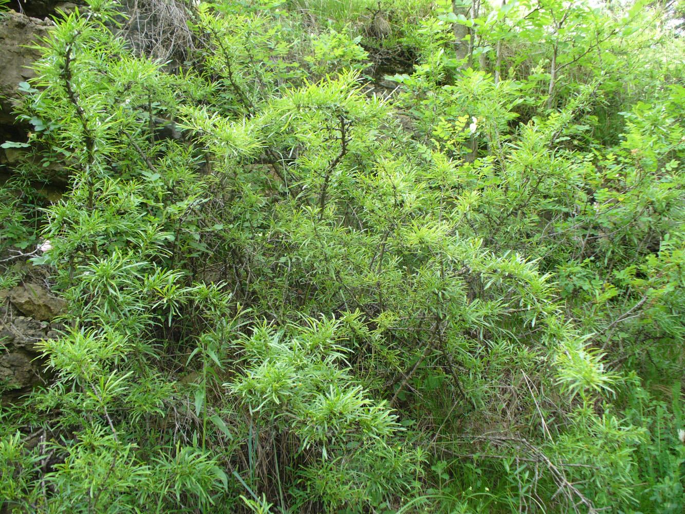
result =
[[[28,69],[39,54],[27,48],[38,38],[44,37],[53,23],[51,21],[29,18],[15,11],[0,14],[0,139],[24,140],[27,127],[16,125],[12,114],[19,95],[20,82],[33,77]],[[14,138],[14,139],[13,139]]]

